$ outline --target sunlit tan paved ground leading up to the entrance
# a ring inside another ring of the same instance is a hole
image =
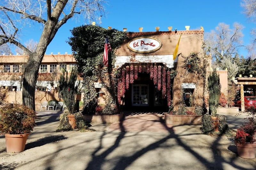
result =
[[[256,168],[256,159],[237,156],[232,138],[201,134],[200,125],[167,127],[161,114],[129,115],[124,122],[119,123],[119,127],[123,129],[118,128],[117,124],[92,124],[91,128],[95,132],[55,132],[60,113],[61,111],[38,112],[37,126],[28,137],[24,152],[4,152],[4,135],[0,136],[0,169]],[[227,122],[230,127],[236,128],[243,117],[227,114]]]

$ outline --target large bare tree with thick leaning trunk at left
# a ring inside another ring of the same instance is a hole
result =
[[[104,0],[2,0],[0,2],[0,45],[14,44],[29,55],[23,78],[23,104],[35,110],[38,70],[46,48],[59,28],[76,16],[81,16],[85,20],[100,18],[104,14],[104,3]],[[43,27],[34,52],[19,40],[23,27],[29,27],[32,23]]]

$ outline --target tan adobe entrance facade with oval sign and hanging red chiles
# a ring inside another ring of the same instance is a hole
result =
[[[132,40],[124,42],[115,53],[115,69],[122,74],[118,81],[120,84],[117,84],[117,93],[121,93],[117,97],[118,102],[124,109],[168,110],[171,98],[174,110],[178,110],[183,100],[186,100],[186,94],[189,94],[192,101],[187,106],[202,106],[206,77],[206,71],[202,76],[202,70],[210,69],[207,64],[210,59],[205,58],[203,51],[203,27],[193,31],[189,30],[189,26],[186,26],[185,31],[172,30],[172,27],[168,27],[168,31],[159,31],[159,27],[156,27],[155,32],[143,32],[143,28],[139,30],[140,32],[127,32]],[[178,41],[178,51],[174,57]],[[192,69],[195,67],[197,70]],[[175,78],[167,82],[167,75],[170,73]],[[132,82],[130,80],[125,83],[131,76]],[[95,87],[101,88],[97,85]],[[99,90],[104,92],[105,89]],[[104,96],[100,98],[100,103],[104,104]]]

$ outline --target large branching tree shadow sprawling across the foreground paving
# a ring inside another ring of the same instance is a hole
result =
[[[169,135],[163,137],[162,139],[149,144],[148,146],[141,148],[139,151],[134,152],[132,155],[122,155],[121,157],[118,158],[118,160],[116,161],[116,163],[114,164],[113,170],[120,170],[120,169],[126,169],[128,168],[128,166],[132,165],[132,163],[134,163],[137,159],[139,159],[141,156],[143,156],[144,154],[146,154],[147,152],[153,151],[156,148],[161,147],[161,145],[163,145],[167,140],[169,139],[175,139],[176,140],[176,145],[179,145],[183,148],[183,150],[185,150],[186,152],[189,152],[189,154],[191,154],[193,156],[193,159],[198,160],[199,162],[201,162],[202,165],[204,165],[202,167],[202,169],[218,169],[218,170],[223,170],[225,167],[225,164],[229,164],[230,166],[232,166],[234,169],[240,169],[240,170],[246,170],[247,168],[244,168],[243,166],[239,166],[236,164],[236,160],[233,158],[231,158],[231,160],[228,160],[225,158],[224,155],[221,154],[221,149],[220,149],[220,140],[222,137],[217,137],[215,139],[215,141],[212,142],[212,144],[209,146],[210,150],[209,152],[212,153],[213,157],[212,160],[209,160],[208,158],[205,158],[205,156],[203,154],[200,154],[199,152],[195,151],[195,148],[191,147],[190,145],[187,145],[187,143],[185,141],[182,140],[182,137],[184,137],[185,135],[194,135],[194,133],[192,134],[175,134],[174,133],[174,129],[173,128],[177,128],[179,126],[175,126],[175,127],[167,127],[166,124],[164,122],[162,122],[162,119],[159,118],[159,122],[161,122],[163,124],[163,126],[165,127],[165,129],[169,132]],[[92,169],[102,169],[103,168],[103,164],[106,163],[107,161],[109,161],[107,159],[107,157],[120,145],[121,141],[124,139],[125,140],[125,134],[127,133],[127,131],[125,130],[125,127],[123,126],[123,122],[120,122],[120,129],[122,130],[119,135],[117,136],[114,144],[112,146],[110,146],[108,149],[106,149],[104,152],[102,152],[101,154],[96,154],[98,153],[103,147],[102,147],[102,140],[104,139],[104,136],[106,135],[106,132],[104,132],[101,136],[101,141],[100,141],[100,145],[98,148],[95,149],[95,151],[92,153],[92,159],[91,161],[87,164],[87,167],[85,168],[86,170],[92,170]],[[136,134],[134,134],[136,135]],[[227,148],[228,151],[228,148]],[[253,164],[252,164],[253,165]],[[171,166],[171,165],[170,165]],[[181,164],[180,164],[181,166]],[[183,165],[183,168],[191,168],[190,165],[186,166]],[[154,168],[154,167],[151,167]],[[247,169],[248,170],[248,169]]]

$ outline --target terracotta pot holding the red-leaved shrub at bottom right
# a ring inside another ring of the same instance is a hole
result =
[[[235,145],[237,146],[238,156],[245,159],[254,159],[256,154],[256,142],[254,143],[243,143],[239,144],[235,141]]]

